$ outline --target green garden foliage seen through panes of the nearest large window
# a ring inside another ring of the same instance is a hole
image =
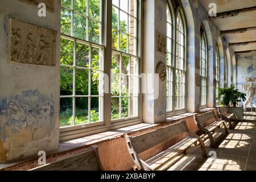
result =
[[[89,3],[87,4],[87,2]],[[88,40],[93,43],[100,44],[100,27],[101,24],[96,20],[100,19],[101,5],[100,0],[76,0],[74,1],[74,14],[73,14],[73,36],[78,39]],[[61,33],[65,35],[71,34],[71,0],[61,0]],[[89,7],[87,7],[89,5]],[[89,12],[87,12],[89,9]],[[112,25],[114,28],[122,32],[127,32],[128,24],[125,20],[118,20],[118,12],[112,12]],[[89,15],[87,18],[86,15]],[[94,20],[96,19],[96,20]],[[88,24],[87,24],[88,23]],[[120,24],[119,24],[120,23]],[[88,28],[87,28],[88,27]],[[118,38],[119,36],[119,38]],[[119,44],[118,44],[119,40]],[[118,34],[118,31],[113,30],[112,32],[112,48],[119,49],[120,51],[128,52],[129,39],[125,34]],[[61,39],[61,64],[73,65],[74,58],[74,42],[72,40]],[[76,44],[76,65],[79,67],[89,68],[89,55],[91,55],[91,72],[88,69],[76,69],[76,94],[86,96],[89,93],[89,74],[91,76],[91,94],[98,95],[99,76],[100,72],[96,71],[100,69],[101,50],[99,48],[92,47],[91,53],[89,54],[89,46],[81,43]],[[122,71],[119,70],[119,56],[115,55],[112,57],[112,73],[123,73],[127,74],[127,65],[129,65],[129,57],[123,57],[122,59]],[[103,68],[101,68],[103,69]],[[60,93],[61,96],[72,96],[73,94],[73,68],[62,67],[60,68]],[[125,78],[123,78],[125,80]],[[114,95],[119,96],[119,81],[120,76],[114,77],[112,81],[112,90]],[[127,82],[122,82],[122,96],[128,96]],[[60,125],[70,126],[72,125],[73,106],[71,99],[61,99],[60,101]],[[122,98],[122,117],[128,116],[128,97]],[[99,118],[98,100],[92,98],[91,100],[90,118],[91,122],[97,122]],[[76,98],[76,125],[88,123],[88,113],[85,110],[88,109],[88,100]],[[118,102],[112,102],[112,118],[119,118],[119,100]]]

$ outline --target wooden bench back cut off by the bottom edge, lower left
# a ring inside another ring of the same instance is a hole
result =
[[[29,171],[103,171],[100,158],[98,156],[98,147],[92,146],[92,149],[81,154],[69,156],[68,158],[57,160],[44,166],[30,169]]]

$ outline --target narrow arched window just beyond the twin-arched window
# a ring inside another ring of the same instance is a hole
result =
[[[200,76],[201,76],[201,106],[207,105],[207,38],[205,31],[201,31],[201,44],[200,44]]]

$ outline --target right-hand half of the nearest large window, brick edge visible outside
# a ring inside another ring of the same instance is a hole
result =
[[[137,0],[112,1],[112,120],[138,117]]]

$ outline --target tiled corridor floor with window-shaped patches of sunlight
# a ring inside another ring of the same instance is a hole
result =
[[[217,131],[218,148],[207,145],[208,158],[201,157],[199,147],[192,147],[174,166],[168,170],[182,171],[256,171],[256,113],[245,113],[244,120],[239,122],[229,134]],[[214,155],[216,155],[216,158]]]

